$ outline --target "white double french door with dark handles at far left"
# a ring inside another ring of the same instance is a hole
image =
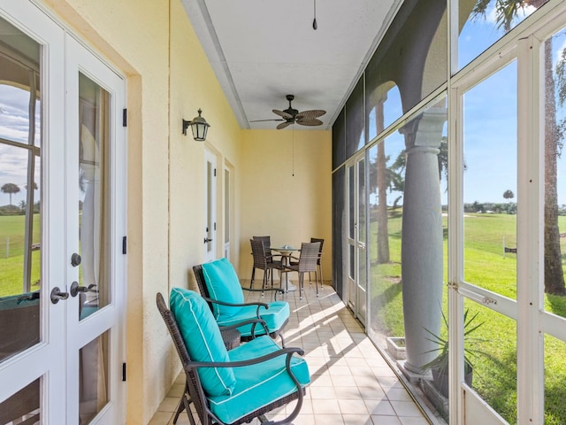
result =
[[[0,27],[0,423],[124,423],[125,82],[34,4]]]

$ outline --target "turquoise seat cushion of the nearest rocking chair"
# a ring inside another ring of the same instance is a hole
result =
[[[279,350],[269,336],[260,336],[228,352],[230,360],[254,359]],[[286,355],[246,367],[233,367],[236,386],[230,396],[210,397],[210,410],[225,423],[266,406],[296,391],[285,368]],[[294,356],[291,370],[302,387],[310,383],[309,366],[305,359]]]

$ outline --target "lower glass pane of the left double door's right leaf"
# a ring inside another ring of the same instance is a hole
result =
[[[108,341],[107,331],[80,349],[80,425],[90,423],[108,403]]]

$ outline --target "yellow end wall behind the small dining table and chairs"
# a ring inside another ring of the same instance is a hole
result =
[[[273,246],[299,247],[310,237],[325,239],[323,274],[331,279],[332,134],[296,127],[243,131],[242,279],[250,278],[253,264],[249,239],[265,235]],[[296,279],[296,274],[289,277]]]

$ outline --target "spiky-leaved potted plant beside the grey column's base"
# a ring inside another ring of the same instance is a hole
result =
[[[486,354],[478,349],[478,343],[482,343],[485,340],[470,337],[470,334],[475,332],[484,322],[477,321],[479,313],[470,315],[470,310],[466,309],[463,313],[463,338],[464,338],[464,381],[471,386],[472,376],[473,376],[473,364],[471,358],[475,357],[477,354]],[[444,312],[442,312],[442,320],[448,328],[448,321]],[[429,352],[438,352],[439,354],[436,358],[432,359],[429,363],[421,367],[423,370],[431,369],[432,372],[432,382],[434,387],[440,391],[444,397],[448,397],[448,339],[447,337],[442,337],[440,335],[434,334],[427,328],[424,330],[430,335],[427,337],[429,341],[438,344],[438,347],[430,350]],[[473,346],[473,348],[472,348]]]

